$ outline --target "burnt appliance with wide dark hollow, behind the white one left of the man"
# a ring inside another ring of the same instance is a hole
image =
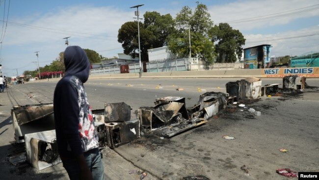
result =
[[[13,107],[11,117],[17,143],[25,142],[25,134],[55,128],[52,103]]]

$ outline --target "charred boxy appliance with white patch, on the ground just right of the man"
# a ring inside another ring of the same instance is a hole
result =
[[[111,149],[140,138],[139,120],[126,122],[108,122],[106,127],[106,144]]]

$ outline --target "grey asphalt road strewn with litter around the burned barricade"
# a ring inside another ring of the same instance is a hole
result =
[[[85,83],[92,109],[105,103],[125,102],[134,111],[154,106],[156,98],[186,97],[186,107],[193,106],[206,91],[226,92],[225,84],[239,79],[106,79]],[[319,79],[307,79],[309,86],[319,87]],[[61,164],[36,171],[19,168],[5,160],[14,141],[10,109],[15,105],[52,103],[57,82],[13,85],[0,93],[1,174],[5,179],[66,179]],[[263,85],[282,83],[281,79],[263,79]],[[176,89],[180,90],[176,90]],[[27,98],[31,94],[32,98]],[[208,123],[170,139],[142,136],[114,150],[104,150],[105,172],[110,180],[139,179],[128,171],[142,169],[149,173],[144,180],[181,180],[203,175],[211,180],[283,180],[276,169],[319,171],[319,89],[305,89],[301,94],[262,97],[246,106],[261,111],[252,115],[247,109],[232,107]],[[243,110],[243,111],[240,111]],[[226,140],[223,135],[236,139]],[[283,153],[279,149],[289,150]],[[240,169],[248,166],[249,173]]]

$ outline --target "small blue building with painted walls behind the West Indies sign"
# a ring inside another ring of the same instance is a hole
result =
[[[244,68],[259,69],[270,66],[270,44],[263,44],[244,49]]]

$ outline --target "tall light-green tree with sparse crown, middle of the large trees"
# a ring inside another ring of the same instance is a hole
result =
[[[197,56],[213,62],[214,45],[209,36],[213,21],[207,6],[196,3],[197,7],[194,12],[188,6],[184,6],[176,15],[175,27],[177,30],[168,36],[168,48],[180,58],[188,57],[191,50],[192,57]],[[189,49],[189,31],[191,49]]]

